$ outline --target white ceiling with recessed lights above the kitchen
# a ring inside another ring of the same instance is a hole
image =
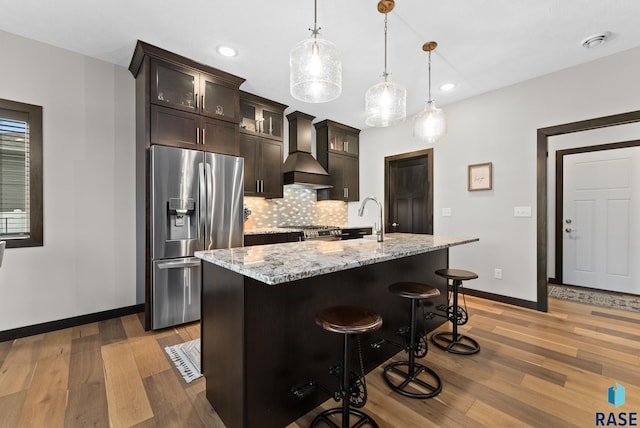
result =
[[[244,77],[242,89],[364,129],[364,94],[384,69],[377,0],[318,0],[321,36],[343,58],[343,92],[307,104],[289,95],[289,51],[309,36],[313,0],[0,0],[0,29],[128,67],[137,40]],[[422,109],[432,55],[438,106],[640,46],[638,0],[397,0],[388,16],[388,71]],[[609,31],[585,49],[586,37]],[[217,45],[239,51],[224,58]],[[5,58],[6,59],[6,58]],[[6,66],[6,64],[4,65]],[[457,88],[442,93],[443,82]],[[595,102],[595,100],[594,100]]]

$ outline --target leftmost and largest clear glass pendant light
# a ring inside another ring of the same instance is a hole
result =
[[[340,51],[328,40],[318,38],[318,2],[314,0],[311,37],[299,42],[289,55],[291,96],[307,103],[335,100],[342,93]]]

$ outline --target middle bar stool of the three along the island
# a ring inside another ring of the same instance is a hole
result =
[[[396,361],[388,364],[384,368],[384,380],[394,391],[411,398],[431,398],[442,391],[442,381],[440,377],[430,368],[415,362],[416,355],[425,356],[427,354],[427,341],[423,339],[426,332],[420,337],[416,337],[416,308],[422,299],[430,299],[440,295],[437,288],[421,284],[418,282],[396,282],[389,286],[389,291],[397,296],[411,299],[411,316],[409,318],[408,337],[405,335],[405,351],[409,354],[408,361]],[[402,334],[402,330],[400,331]],[[416,342],[416,339],[418,342]],[[421,349],[421,345],[424,349]],[[401,368],[406,368],[402,370]],[[398,384],[393,382],[393,376],[399,376],[402,381]],[[426,374],[429,381],[419,379],[418,376]],[[411,388],[412,384],[422,387],[429,392],[414,392],[416,388]]]

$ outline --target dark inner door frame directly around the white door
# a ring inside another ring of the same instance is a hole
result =
[[[564,156],[574,155],[578,153],[590,153],[598,152],[602,150],[615,150],[626,149],[628,147],[640,146],[640,140],[623,141],[619,143],[599,144],[595,146],[575,147],[571,149],[556,151],[556,215],[555,215],[555,275],[554,278],[549,278],[549,282],[552,284],[563,284],[564,278],[562,275],[562,263],[563,258],[563,246],[562,246],[562,219],[564,218]]]

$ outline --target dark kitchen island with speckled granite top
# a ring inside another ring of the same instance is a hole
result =
[[[330,397],[318,390],[298,399],[293,385],[311,379],[337,389],[329,367],[340,359],[342,338],[316,326],[319,310],[356,304],[382,316],[382,328],[361,337],[369,372],[399,351],[369,345],[380,339],[400,342],[396,331],[408,321],[409,302],[387,287],[424,282],[441,291],[429,302],[433,308],[446,303],[446,281],[434,272],[448,267],[450,247],[477,240],[394,233],[380,243],[303,241],[197,252],[206,262],[201,325],[207,399],[228,428],[295,421]],[[444,321],[428,320],[425,328]]]

